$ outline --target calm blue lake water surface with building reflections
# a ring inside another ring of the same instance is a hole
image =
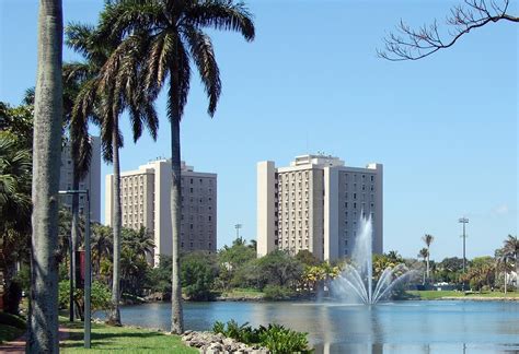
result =
[[[170,304],[122,308],[126,323],[169,330]],[[309,333],[315,353],[519,353],[519,303],[185,303],[185,328],[277,322]]]

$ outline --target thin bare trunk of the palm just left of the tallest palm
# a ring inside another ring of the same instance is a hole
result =
[[[119,143],[118,143],[118,122],[114,118],[114,131],[112,132],[112,152],[114,163],[114,219],[112,225],[114,227],[114,269],[112,279],[112,309],[108,323],[120,326],[120,169],[119,169]]]

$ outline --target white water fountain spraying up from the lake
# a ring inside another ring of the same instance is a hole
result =
[[[405,264],[389,267],[382,272],[373,288],[372,273],[372,222],[371,217],[360,217],[351,264],[346,264],[341,275],[332,281],[332,294],[342,299],[373,305],[387,298],[395,285],[408,281],[414,274]]]

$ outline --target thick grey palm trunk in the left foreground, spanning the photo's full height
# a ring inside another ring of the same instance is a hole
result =
[[[34,105],[28,353],[58,353],[58,189],[62,119],[61,0],[41,0]]]

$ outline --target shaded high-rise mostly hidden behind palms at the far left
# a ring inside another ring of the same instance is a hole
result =
[[[91,137],[92,157],[86,176],[79,182],[79,189],[90,191],[90,219],[101,222],[101,139]],[[61,167],[59,170],[59,190],[73,188],[73,162],[70,143],[65,144],[61,150]],[[69,211],[72,210],[72,196],[61,196],[61,203]],[[83,214],[86,206],[85,196],[79,197],[79,212]]]

